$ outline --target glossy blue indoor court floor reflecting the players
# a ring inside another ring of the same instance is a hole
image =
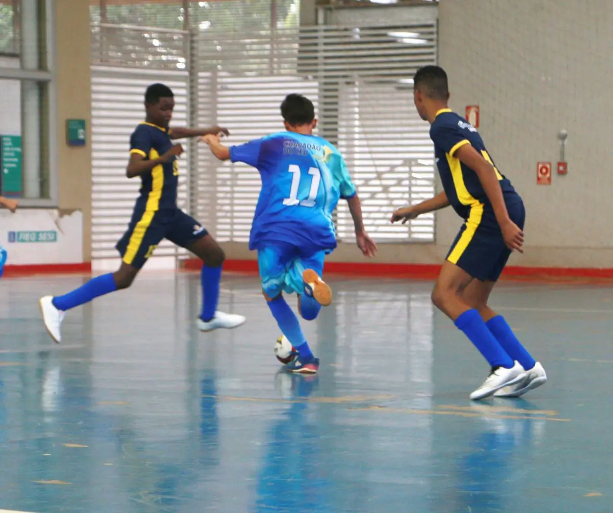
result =
[[[305,378],[278,372],[251,276],[224,276],[237,330],[196,331],[197,274],[144,272],[55,345],[37,298],[85,279],[0,282],[0,510],[613,511],[611,288],[500,284],[549,382],[475,404],[487,366],[426,281],[330,279]]]

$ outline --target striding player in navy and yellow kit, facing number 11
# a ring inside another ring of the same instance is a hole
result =
[[[128,230],[117,243],[122,260],[118,271],[89,280],[64,296],[45,296],[40,309],[48,333],[61,341],[64,313],[98,296],[128,288],[153,255],[162,239],[184,247],[204,261],[202,268],[202,311],[196,323],[201,331],[235,328],[245,322],[242,315],[216,311],[224,252],[207,230],[177,206],[178,157],[183,153],[173,139],[227,133],[226,129],[170,128],[175,99],[169,87],[150,85],[145,92],[145,121],[130,137],[128,178],[140,177],[142,187]]]

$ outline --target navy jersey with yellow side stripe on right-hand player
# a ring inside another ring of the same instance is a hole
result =
[[[430,139],[434,143],[436,165],[443,189],[449,203],[461,217],[468,219],[471,207],[474,206],[480,205],[485,210],[492,209],[476,172],[462,164],[455,156],[455,152],[465,144],[470,144],[492,164],[504,196],[516,195],[511,182],[500,174],[487,153],[477,129],[451,109],[441,109],[436,113],[430,127]]]

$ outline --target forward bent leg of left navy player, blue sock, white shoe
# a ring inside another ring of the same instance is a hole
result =
[[[219,280],[221,267],[226,255],[219,244],[210,235],[197,239],[188,250],[200,258],[204,265],[200,274],[202,281],[202,312],[196,320],[200,331],[212,331],[218,328],[237,328],[245,322],[245,317],[225,314],[217,310],[219,299]]]

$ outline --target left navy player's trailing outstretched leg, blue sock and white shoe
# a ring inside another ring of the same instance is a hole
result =
[[[80,304],[88,303],[97,296],[115,290],[128,288],[139,274],[139,269],[125,262],[113,274],[105,274],[89,280],[82,287],[58,298],[44,296],[39,299],[40,313],[45,329],[53,341],[59,344],[62,340],[61,326],[66,311]]]

